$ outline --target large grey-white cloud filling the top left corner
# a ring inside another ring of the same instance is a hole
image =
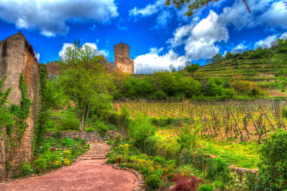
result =
[[[66,34],[66,22],[103,24],[118,16],[114,0],[5,0],[0,10],[1,19],[47,37]]]

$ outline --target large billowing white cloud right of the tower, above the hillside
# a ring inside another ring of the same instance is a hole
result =
[[[184,44],[185,56],[189,60],[205,59],[219,52],[217,42],[227,42],[228,29],[219,22],[218,15],[210,10],[209,15],[200,20],[196,17],[189,25],[177,28],[173,38],[168,40],[172,48]]]

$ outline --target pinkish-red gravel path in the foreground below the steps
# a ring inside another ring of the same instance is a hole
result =
[[[49,175],[4,181],[1,183],[6,185],[0,185],[0,190],[132,191],[138,184],[138,181],[133,184],[137,178],[132,172],[117,170],[110,165],[102,165],[103,161],[81,160],[73,166]]]

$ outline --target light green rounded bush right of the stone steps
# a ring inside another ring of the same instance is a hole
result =
[[[147,137],[155,134],[155,127],[148,118],[137,116],[135,120],[131,122],[128,132],[137,144],[142,144]]]

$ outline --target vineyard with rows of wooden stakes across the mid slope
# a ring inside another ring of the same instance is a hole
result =
[[[131,115],[144,115],[168,118],[169,128],[177,132],[188,126],[193,132],[199,128],[201,137],[216,140],[241,141],[260,140],[268,132],[280,128],[286,130],[286,123],[281,116],[285,101],[250,100],[250,101],[189,101],[174,98],[162,100],[123,99],[113,103],[115,110],[128,108]]]

